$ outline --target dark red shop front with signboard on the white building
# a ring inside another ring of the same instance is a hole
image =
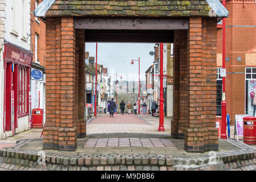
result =
[[[4,121],[3,130],[11,131],[12,110],[14,128],[18,118],[29,115],[30,68],[32,53],[11,43],[5,43],[3,53],[5,68]],[[12,94],[14,97],[12,97]],[[11,109],[11,101],[14,108]],[[29,122],[29,121],[28,121]]]

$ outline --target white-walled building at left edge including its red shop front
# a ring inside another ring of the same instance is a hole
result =
[[[0,138],[29,129],[31,1],[1,1]]]

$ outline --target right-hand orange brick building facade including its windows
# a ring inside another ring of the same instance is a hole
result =
[[[227,114],[254,113],[251,92],[256,90],[256,3],[252,0],[226,1],[226,102]],[[217,115],[221,115],[222,21],[217,26]]]

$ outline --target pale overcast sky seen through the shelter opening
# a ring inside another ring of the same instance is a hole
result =
[[[108,68],[108,75],[122,75],[123,80],[138,80],[139,63],[131,64],[132,59],[140,57],[140,80],[145,80],[145,71],[153,64],[155,44],[145,43],[98,43],[97,64]],[[96,60],[96,43],[86,43],[86,52]]]

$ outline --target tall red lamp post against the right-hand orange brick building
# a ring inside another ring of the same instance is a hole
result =
[[[222,1],[223,6],[226,6],[225,0]],[[226,50],[225,50],[225,26],[226,26],[226,21],[225,18],[222,19],[223,22],[223,28],[222,28],[222,39],[223,39],[223,46],[222,46],[222,68],[226,69],[225,67],[225,57],[226,57]],[[226,98],[225,98],[225,77],[222,77],[222,101],[221,101],[221,139],[227,139],[227,134],[226,134],[226,118],[227,118],[227,112],[226,112]]]

